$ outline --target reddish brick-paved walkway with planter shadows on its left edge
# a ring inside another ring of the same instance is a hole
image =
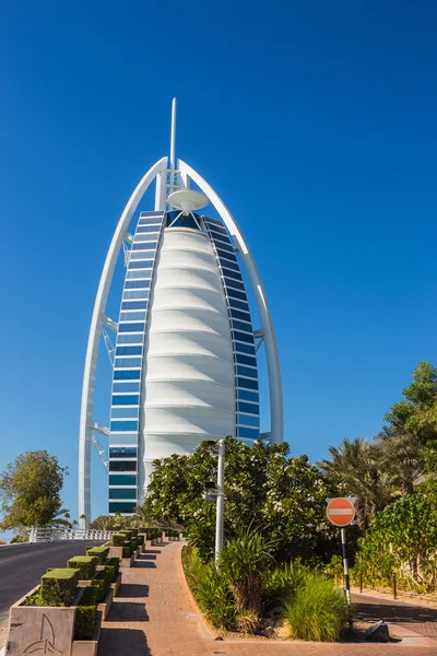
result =
[[[103,624],[98,656],[437,655],[437,642],[435,647],[414,647],[405,643],[214,641],[201,623],[186,590],[180,549],[180,542],[149,548],[134,567],[123,570],[120,596],[115,599]]]

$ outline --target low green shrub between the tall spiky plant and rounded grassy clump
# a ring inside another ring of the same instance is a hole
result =
[[[262,578],[261,602],[268,614],[280,614],[285,602],[291,601],[297,588],[306,581],[306,570],[296,563],[267,570]]]

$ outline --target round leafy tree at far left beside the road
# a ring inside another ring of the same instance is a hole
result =
[[[70,526],[60,497],[67,475],[68,468],[46,450],[17,456],[0,475],[0,528],[20,534],[29,526]]]

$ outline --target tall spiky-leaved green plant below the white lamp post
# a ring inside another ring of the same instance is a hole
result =
[[[233,594],[236,612],[261,612],[261,589],[264,572],[272,566],[273,542],[252,527],[239,528],[223,547],[218,561],[221,575]]]

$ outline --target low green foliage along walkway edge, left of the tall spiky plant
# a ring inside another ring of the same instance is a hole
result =
[[[214,565],[203,564],[196,548],[184,548],[182,562],[199,606],[217,629],[235,623],[233,598],[225,576]]]

